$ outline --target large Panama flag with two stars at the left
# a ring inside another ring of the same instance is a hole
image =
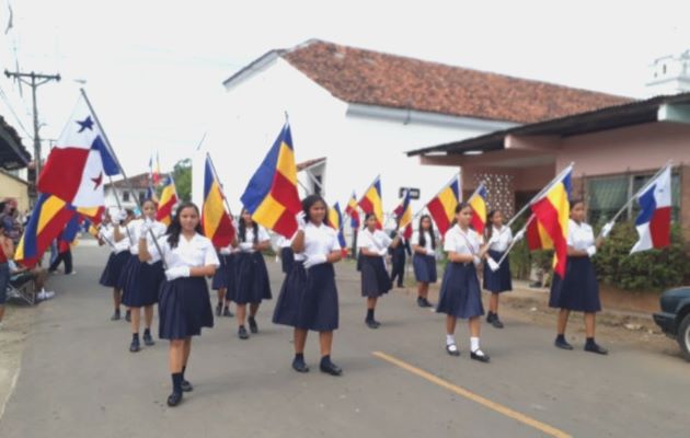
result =
[[[102,206],[104,180],[118,173],[115,158],[82,95],[46,160],[38,192],[55,195],[74,207]]]

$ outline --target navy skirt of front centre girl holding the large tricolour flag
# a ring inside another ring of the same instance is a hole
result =
[[[295,262],[283,281],[273,322],[315,332],[336,330],[338,301],[333,264],[304,269],[301,262]]]

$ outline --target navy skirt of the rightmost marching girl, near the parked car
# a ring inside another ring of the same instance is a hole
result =
[[[601,310],[597,274],[589,257],[567,257],[565,277],[553,276],[549,306],[587,313]]]

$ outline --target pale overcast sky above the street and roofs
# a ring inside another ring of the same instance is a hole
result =
[[[16,54],[64,77],[38,91],[42,137],[59,136],[85,80],[129,174],[156,148],[163,171],[188,157],[222,119],[223,79],[309,38],[631,96],[654,58],[690,48],[688,1],[0,1],[3,67]],[[32,134],[28,89],[0,88]],[[4,101],[0,114],[25,137]]]

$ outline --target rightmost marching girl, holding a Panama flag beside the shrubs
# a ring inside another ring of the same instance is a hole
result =
[[[571,312],[585,313],[585,332],[587,342],[585,350],[600,355],[608,350],[595,342],[596,314],[601,310],[599,301],[599,284],[591,257],[603,243],[603,239],[611,231],[607,224],[601,237],[595,239],[594,231],[585,223],[585,203],[582,199],[571,200],[571,220],[567,232],[567,262],[563,279],[554,275],[551,285],[549,306],[560,309],[557,335],[555,346],[562,349],[573,349],[565,341],[565,327]]]

